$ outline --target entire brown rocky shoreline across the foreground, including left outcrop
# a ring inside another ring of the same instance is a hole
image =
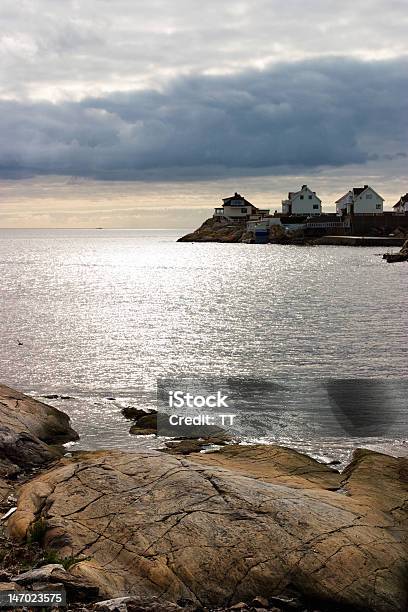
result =
[[[63,456],[68,416],[4,386],[0,432],[0,591],[102,612],[407,609],[407,458],[358,450],[340,473],[279,446]]]

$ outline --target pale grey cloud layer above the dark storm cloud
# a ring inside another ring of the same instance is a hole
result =
[[[408,53],[406,0],[2,0],[2,97],[84,97],[325,54]]]

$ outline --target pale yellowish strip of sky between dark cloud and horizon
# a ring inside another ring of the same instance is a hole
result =
[[[404,168],[400,169],[399,180],[389,181],[378,173],[375,164],[372,166],[367,176],[361,176],[357,167],[314,176],[194,183],[79,180],[75,189],[70,179],[62,177],[3,181],[0,228],[195,229],[212,216],[222,198],[235,191],[259,208],[270,208],[273,214],[281,211],[287,192],[296,191],[302,184],[317,192],[323,212],[335,212],[335,201],[341,195],[366,183],[385,199],[384,210],[391,211],[405,187]]]

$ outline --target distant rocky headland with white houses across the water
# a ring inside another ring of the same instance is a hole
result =
[[[402,246],[407,238],[408,193],[384,211],[384,198],[372,187],[353,187],[336,201],[335,213],[325,213],[316,192],[302,185],[273,215],[235,192],[179,242]]]

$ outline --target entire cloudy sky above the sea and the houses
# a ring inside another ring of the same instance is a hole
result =
[[[2,0],[0,227],[408,191],[406,0]]]

